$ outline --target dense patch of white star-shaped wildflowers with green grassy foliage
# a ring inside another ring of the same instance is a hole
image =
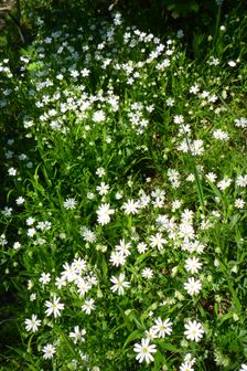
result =
[[[0,63],[2,370],[247,370],[247,18],[200,63],[115,7],[35,26]]]

